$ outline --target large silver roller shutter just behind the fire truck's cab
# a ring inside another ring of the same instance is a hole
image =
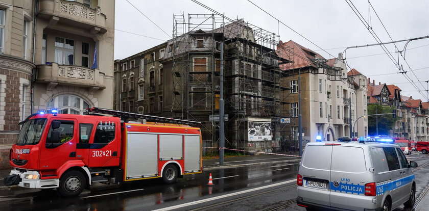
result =
[[[127,178],[156,176],[157,136],[156,134],[127,133]]]

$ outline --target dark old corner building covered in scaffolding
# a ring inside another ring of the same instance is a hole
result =
[[[125,103],[123,108],[118,106],[117,109],[130,111],[129,108],[133,108],[130,112],[137,112],[134,105],[130,107],[127,103],[139,101],[138,96],[144,93],[145,97],[140,97],[144,107],[158,108],[145,109],[145,114],[200,121],[204,146],[217,146],[222,43],[226,146],[258,151],[279,149],[284,135],[280,119],[290,116],[289,110],[283,110],[285,102],[282,100],[289,87],[280,85],[280,78],[285,75],[279,66],[292,62],[288,59],[291,50],[282,50],[283,55],[278,55],[276,49],[282,47],[278,46],[279,36],[243,19],[225,22],[221,15],[174,15],[173,38],[165,43],[162,58],[151,64],[143,61],[147,73],[142,75],[145,76],[151,77],[151,71],[159,72],[156,67],[162,67],[159,83],[149,84],[151,78],[138,80],[144,81],[146,87],[131,97],[127,89],[125,92],[116,90],[122,96],[116,96],[117,101]],[[149,57],[152,52],[146,50],[116,60],[116,75],[131,74],[124,70],[123,64],[134,58],[145,58],[145,55]],[[152,89],[162,91],[151,92]],[[154,96],[157,94],[163,98],[158,107],[153,105],[154,99],[159,97]]]

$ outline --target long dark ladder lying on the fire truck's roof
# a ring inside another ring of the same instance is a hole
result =
[[[157,116],[116,111],[116,110],[103,109],[103,108],[97,108],[97,107],[89,108],[86,111],[90,113],[108,114],[115,117],[120,117],[124,121],[127,121],[127,118],[133,118],[133,119],[146,119],[146,121],[173,123],[173,124],[189,124],[189,125],[201,124],[201,122],[196,122],[196,121],[173,119],[168,117],[157,117]]]

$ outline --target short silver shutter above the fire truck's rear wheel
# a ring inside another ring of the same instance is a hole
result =
[[[159,159],[183,159],[183,135],[159,135]]]

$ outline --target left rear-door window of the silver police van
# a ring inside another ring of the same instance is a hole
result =
[[[307,168],[330,170],[332,146],[311,145],[305,147],[302,165]]]

